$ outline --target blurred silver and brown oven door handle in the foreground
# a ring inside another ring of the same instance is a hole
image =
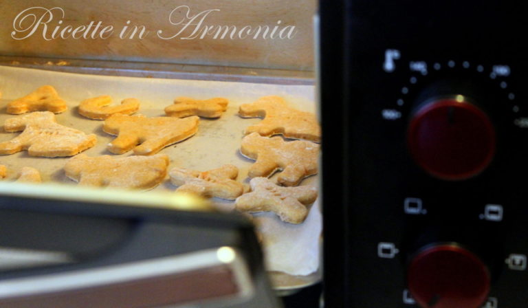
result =
[[[221,247],[113,265],[0,280],[0,307],[133,308],[250,298],[248,266]],[[220,307],[220,306],[219,306]]]

